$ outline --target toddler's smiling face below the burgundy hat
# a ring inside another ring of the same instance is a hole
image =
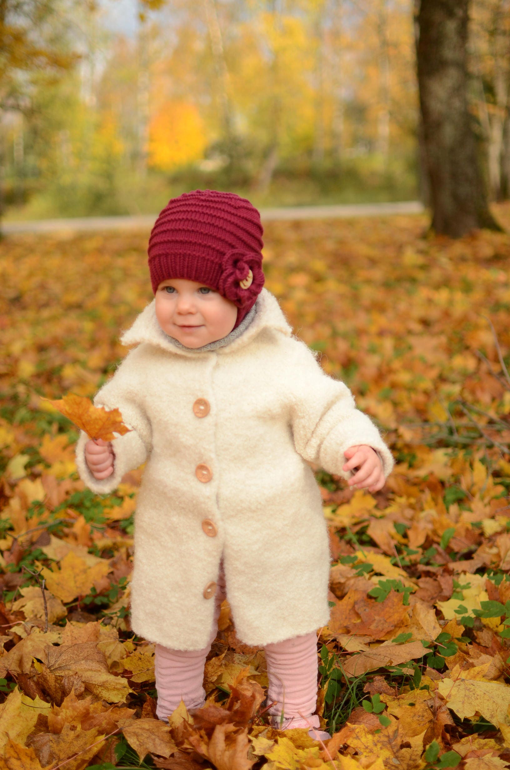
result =
[[[203,283],[169,278],[156,290],[156,318],[181,344],[202,347],[233,330],[237,306]]]

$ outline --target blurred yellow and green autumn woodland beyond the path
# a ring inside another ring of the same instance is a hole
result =
[[[419,3],[133,0],[122,34],[116,2],[2,3],[8,218],[154,213],[206,187],[259,206],[427,199]],[[505,199],[509,5],[470,5],[469,115]]]

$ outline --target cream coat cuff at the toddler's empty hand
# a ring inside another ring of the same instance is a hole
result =
[[[391,451],[381,438],[381,434],[366,414],[356,410],[351,415],[347,425],[338,424],[330,430],[324,439],[319,451],[319,463],[330,474],[349,479],[353,471],[342,470],[345,463],[344,451],[357,444],[366,444],[371,447],[381,458],[384,477],[387,478],[394,466],[394,458]],[[346,436],[348,433],[348,437]]]

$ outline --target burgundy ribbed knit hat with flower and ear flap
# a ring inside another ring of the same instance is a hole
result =
[[[168,278],[216,289],[237,305],[234,329],[263,287],[260,213],[234,192],[193,190],[171,198],[149,237],[153,292]]]

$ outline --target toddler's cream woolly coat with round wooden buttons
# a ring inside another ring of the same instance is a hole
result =
[[[368,444],[388,475],[393,458],[347,386],[292,334],[269,291],[237,339],[209,351],[174,345],[156,300],[121,336],[136,346],[94,403],[119,407],[133,431],[112,441],[114,473],[96,480],[76,445],[79,475],[99,494],[146,461],[139,489],[131,584],[133,631],[199,650],[213,623],[207,584],[220,558],[238,637],[260,645],[327,624],[330,552],[320,491],[307,461],[346,477],[344,450]],[[210,412],[197,417],[193,403]],[[196,467],[212,477],[200,481]],[[205,519],[217,534],[207,535]]]

